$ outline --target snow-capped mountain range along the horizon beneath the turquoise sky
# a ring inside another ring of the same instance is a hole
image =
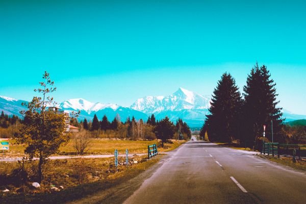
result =
[[[87,118],[92,119],[94,114],[101,119],[106,115],[112,120],[119,114],[122,121],[127,117],[134,116],[136,119],[146,120],[151,114],[157,119],[168,116],[170,120],[175,121],[182,118],[190,127],[200,127],[206,115],[209,113],[210,96],[200,95],[195,92],[179,88],[173,94],[168,96],[145,96],[137,99],[132,106],[123,107],[116,104],[91,103],[83,98],[74,98],[63,101],[59,107],[68,111],[80,111],[79,120]],[[17,115],[25,107],[21,103],[27,101],[18,100],[6,96],[0,96],[0,111],[4,111],[8,115]],[[283,117],[286,121],[297,119],[306,119],[306,115],[296,115],[287,110],[283,110]]]

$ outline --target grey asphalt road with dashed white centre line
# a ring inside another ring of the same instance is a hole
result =
[[[162,159],[124,203],[306,203],[306,174],[202,141]]]

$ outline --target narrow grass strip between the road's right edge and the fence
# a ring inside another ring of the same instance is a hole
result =
[[[268,160],[270,160],[272,162],[275,162],[275,163],[278,163],[278,164],[289,166],[293,169],[306,171],[306,162],[305,161],[297,160],[296,163],[294,163],[292,158],[287,158],[287,157],[276,158],[276,157],[272,157],[272,156],[259,155],[259,154],[258,154],[258,156],[261,157],[261,158],[264,158],[264,159],[268,159]]]

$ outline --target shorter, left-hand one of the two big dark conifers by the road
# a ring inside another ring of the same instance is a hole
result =
[[[238,136],[237,117],[242,99],[235,79],[224,73],[212,96],[210,115],[207,115],[206,127],[211,141],[231,142]]]

